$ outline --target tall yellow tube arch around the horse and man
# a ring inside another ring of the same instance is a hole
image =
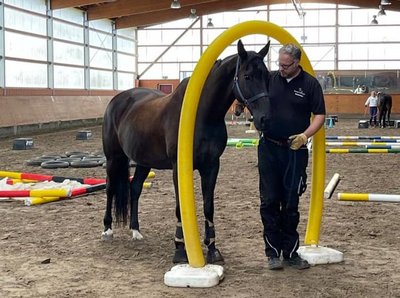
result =
[[[235,25],[221,33],[200,57],[183,100],[178,134],[178,192],[182,216],[182,227],[189,265],[204,267],[205,261],[201,249],[197,227],[196,207],[193,183],[193,139],[196,112],[204,82],[222,51],[235,40],[250,34],[268,35],[281,44],[300,44],[285,29],[263,21],[249,21]],[[300,64],[303,69],[315,76],[307,55],[302,50]],[[325,183],[325,131],[320,129],[313,138],[313,172],[309,220],[306,244],[317,244],[322,219],[323,191]]]

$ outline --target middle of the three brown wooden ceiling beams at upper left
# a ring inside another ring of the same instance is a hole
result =
[[[111,19],[134,14],[150,13],[158,10],[173,10],[170,8],[171,1],[172,0],[137,1],[137,3],[132,5],[131,0],[118,0],[114,3],[89,7],[87,14],[89,21],[92,21],[104,18]],[[218,0],[185,0],[181,1],[181,9],[189,6],[193,7],[194,5],[199,4],[210,4],[212,2],[218,2]]]

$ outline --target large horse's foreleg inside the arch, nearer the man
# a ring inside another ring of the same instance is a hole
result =
[[[223,263],[224,258],[220,251],[215,247],[215,228],[214,228],[214,190],[217,183],[219,172],[219,160],[213,165],[199,169],[201,176],[201,191],[203,193],[205,235],[204,244],[207,245],[207,263]]]

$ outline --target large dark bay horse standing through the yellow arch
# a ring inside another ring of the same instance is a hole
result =
[[[193,168],[199,171],[205,216],[204,244],[207,262],[222,263],[215,247],[214,189],[220,156],[226,147],[225,114],[233,101],[244,103],[263,130],[270,119],[269,71],[264,57],[269,43],[256,53],[247,52],[239,40],[238,54],[215,62],[199,100],[194,133]],[[177,141],[179,118],[188,79],[170,95],[146,88],[133,88],[116,95],[107,106],[103,122],[103,149],[107,158],[107,207],[103,239],[112,238],[112,206],[116,223],[127,224],[133,239],[139,232],[138,201],[151,168],[172,169],[176,196],[177,225],[174,263],[187,262],[177,184]],[[136,162],[129,180],[129,161]]]

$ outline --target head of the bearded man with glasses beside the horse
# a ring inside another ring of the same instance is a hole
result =
[[[279,73],[284,78],[291,78],[299,71],[301,59],[300,49],[292,43],[288,43],[280,48],[277,61]]]

